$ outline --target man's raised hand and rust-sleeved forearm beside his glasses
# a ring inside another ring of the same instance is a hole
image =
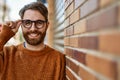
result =
[[[18,31],[18,28],[21,24],[21,21],[9,21],[4,24],[2,24],[2,28],[0,31],[0,51],[3,50],[3,46],[6,44],[6,42],[14,36],[14,34]]]

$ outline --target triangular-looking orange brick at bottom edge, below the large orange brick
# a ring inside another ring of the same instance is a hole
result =
[[[98,80],[94,75],[84,70],[82,67],[79,67],[79,76],[82,80]]]

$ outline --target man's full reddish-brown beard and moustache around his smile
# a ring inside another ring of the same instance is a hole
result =
[[[37,34],[38,37],[30,38],[29,37],[30,34]],[[26,42],[30,45],[39,45],[40,43],[42,43],[44,41],[45,35],[46,35],[46,31],[43,33],[38,30],[23,32],[23,36],[24,36]]]

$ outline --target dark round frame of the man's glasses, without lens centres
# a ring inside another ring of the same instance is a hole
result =
[[[35,24],[35,28],[37,28],[37,29],[41,29],[41,28],[44,27],[44,23],[47,22],[47,21],[44,21],[44,20],[34,20],[34,21],[33,21],[33,20],[29,20],[29,19],[25,19],[25,20],[21,20],[21,21],[22,21],[22,25],[23,25],[23,27],[24,27],[24,28],[27,28],[27,29],[30,29],[30,28],[32,27],[33,23]],[[30,27],[26,27],[26,26],[23,24],[25,21],[30,21],[30,22],[31,22]],[[37,25],[36,25],[37,21],[41,21],[42,24],[43,24],[40,28],[37,27]]]

